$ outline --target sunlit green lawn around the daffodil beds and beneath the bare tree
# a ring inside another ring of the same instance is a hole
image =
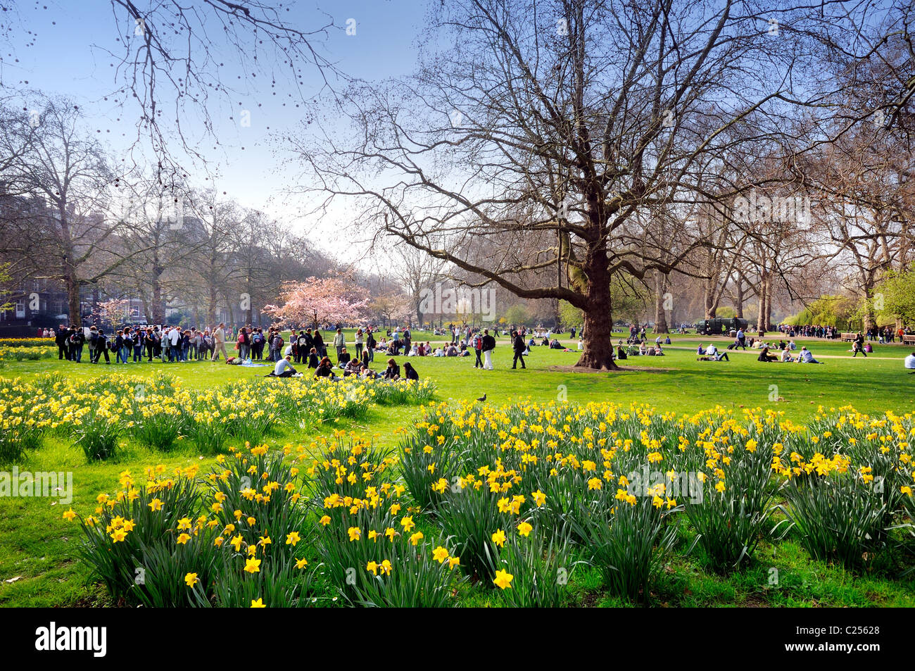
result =
[[[415,333],[414,340],[441,341],[431,334]],[[719,340],[727,345],[726,339]],[[575,347],[572,341],[565,341]],[[507,403],[512,398],[529,396],[536,401],[566,400],[570,403],[614,401],[647,403],[660,410],[694,413],[710,406],[776,409],[784,417],[803,422],[818,406],[837,408],[852,405],[866,413],[892,410],[899,414],[915,412],[915,375],[907,374],[902,359],[908,353],[901,346],[877,346],[867,359],[852,358],[848,343],[797,341],[807,344],[823,365],[796,363],[763,364],[758,352],[729,352],[730,362],[698,362],[693,337],[673,337],[664,357],[635,357],[623,362],[619,373],[579,373],[570,370],[576,352],[561,352],[545,347],[533,348],[526,358],[527,370],[511,370],[511,345],[498,341],[494,355],[496,370],[473,368],[473,357],[413,359],[421,377],[435,381],[439,400],[468,400],[483,394],[488,402]],[[708,339],[703,340],[704,343]],[[719,345],[722,346],[722,345]],[[386,359],[387,357],[384,357]],[[376,356],[373,368],[383,367]],[[404,357],[400,357],[403,361]],[[244,377],[264,375],[268,368],[244,369],[223,363],[142,363],[91,365],[52,361],[6,363],[0,376],[34,378],[39,373],[62,372],[72,379],[112,373],[150,375],[165,371],[182,384],[198,389],[215,388]],[[779,399],[779,400],[771,400]],[[347,428],[377,436],[382,444],[393,445],[398,427],[408,425],[416,416],[415,407],[385,407],[371,411],[368,420],[339,422],[319,427]],[[271,442],[304,442],[304,432],[290,432]],[[192,446],[163,455],[131,442],[115,462],[86,463],[81,450],[69,444],[45,440],[41,449],[30,453],[21,471],[73,471],[73,508],[92,507],[99,492],[110,492],[118,473],[125,469],[141,471],[145,466],[189,463],[207,465]],[[55,606],[104,605],[109,602],[103,590],[87,582],[88,569],[76,558],[81,542],[77,527],[61,519],[61,506],[48,499],[0,498],[0,605]],[[686,540],[686,539],[684,539]],[[842,568],[811,561],[791,540],[778,546],[763,544],[759,557],[746,570],[730,576],[708,573],[702,557],[696,554],[674,560],[655,595],[660,604],[693,605],[829,605],[882,606],[915,605],[915,577],[888,579],[886,575],[854,576]],[[780,587],[767,586],[767,572],[779,568]],[[596,570],[582,569],[570,583],[579,605],[616,605],[602,594]],[[486,601],[472,603],[483,605]]]

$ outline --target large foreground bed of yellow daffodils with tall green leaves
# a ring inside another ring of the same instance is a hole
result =
[[[800,426],[759,409],[429,404],[396,449],[342,431],[248,442],[208,472],[124,471],[63,515],[111,597],[147,606],[555,606],[588,572],[652,603],[682,557],[738,576],[761,544],[910,598],[912,436],[911,415],[851,407]]]

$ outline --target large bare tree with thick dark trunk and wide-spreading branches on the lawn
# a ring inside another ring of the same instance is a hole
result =
[[[346,134],[286,139],[317,189],[360,203],[361,224],[519,297],[584,310],[577,365],[613,368],[611,279],[669,273],[702,244],[684,217],[671,254],[646,235],[652,214],[708,201],[727,225],[736,191],[704,187],[727,152],[797,155],[823,141],[832,91],[806,75],[823,35],[860,16],[835,3],[781,7],[436,4],[422,70],[355,87]],[[801,111],[806,123],[790,123]],[[530,254],[503,252],[530,249],[531,236]],[[489,240],[499,252],[460,253]]]

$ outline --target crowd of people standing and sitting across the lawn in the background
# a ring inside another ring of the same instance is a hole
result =
[[[529,356],[537,346],[554,350],[571,352],[559,340],[560,333],[553,330],[528,329],[518,327],[510,330],[477,328],[471,326],[451,325],[447,330],[440,330],[442,335],[450,335],[450,342],[433,346],[430,341],[414,341],[409,328],[379,330],[372,327],[357,328],[350,336],[351,343],[342,328],[328,329],[333,332],[328,337],[329,344],[336,352],[336,363],[328,356],[328,343],[322,330],[315,328],[293,329],[287,343],[279,327],[242,326],[237,329],[227,327],[221,322],[212,329],[182,328],[179,326],[124,326],[106,333],[100,326],[78,328],[61,325],[58,330],[39,330],[42,337],[53,338],[58,346],[59,359],[81,363],[83,353],[88,348],[88,361],[107,364],[127,363],[188,363],[197,361],[218,362],[222,358],[226,363],[266,365],[274,363],[271,375],[288,377],[299,373],[295,365],[313,370],[317,377],[343,379],[350,375],[357,377],[379,377],[386,380],[401,379],[400,366],[393,359],[395,356],[433,356],[433,357],[469,357],[474,356],[474,367],[493,370],[493,352],[496,348],[496,336],[504,335],[510,339],[513,354],[511,367],[526,368],[524,357]],[[727,350],[758,350],[757,360],[770,362],[818,362],[806,346],[798,351],[795,337],[835,339],[838,331],[834,327],[804,326],[779,328],[787,340],[765,341],[762,338],[747,336],[744,330],[737,330],[735,340]],[[436,330],[439,332],[439,330]],[[577,350],[584,349],[584,334],[576,328],[568,330],[571,337],[579,335]],[[858,331],[852,342],[852,356],[859,353],[867,357],[873,352],[873,341],[891,342],[894,337],[901,338],[909,329],[898,332],[886,327]],[[732,333],[732,336],[735,334]],[[349,346],[352,346],[350,350]],[[663,345],[671,344],[670,336],[657,336],[651,345],[647,337],[646,326],[631,324],[628,338],[619,340],[616,347],[617,359],[633,356],[663,356]],[[231,351],[229,347],[231,346]],[[796,352],[796,353],[795,353]],[[387,367],[383,373],[371,371],[375,355],[387,357]],[[697,359],[701,361],[730,361],[727,351],[719,350],[714,343],[704,347],[702,343],[696,349]],[[912,354],[915,357],[915,353]],[[915,368],[912,357],[906,358],[906,368]],[[263,363],[266,362],[266,363]],[[913,363],[913,365],[910,365]],[[295,364],[295,365],[294,365]],[[414,367],[404,363],[404,379],[418,379]]]

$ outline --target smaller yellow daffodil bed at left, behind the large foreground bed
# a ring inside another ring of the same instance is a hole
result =
[[[195,390],[163,373],[0,379],[0,463],[20,460],[46,436],[71,440],[90,461],[111,459],[127,436],[162,451],[190,440],[200,453],[213,455],[233,439],[260,442],[279,425],[307,429],[338,417],[358,419],[372,404],[420,404],[434,394],[428,380],[255,378]]]

